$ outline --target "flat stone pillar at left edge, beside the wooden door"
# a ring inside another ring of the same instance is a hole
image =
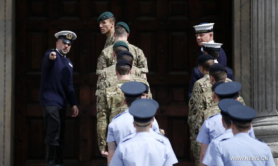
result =
[[[14,156],[14,0],[0,0],[0,166],[13,165]]]

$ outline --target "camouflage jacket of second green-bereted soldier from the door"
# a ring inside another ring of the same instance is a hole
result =
[[[138,47],[129,44],[128,41],[124,42],[127,43],[129,52],[131,52],[133,55],[133,66],[140,68],[140,70],[144,73],[148,73],[147,59],[143,51]],[[104,70],[113,64],[116,64],[116,62],[113,60],[113,45],[111,45],[101,51],[98,59],[96,74],[99,75],[101,70]]]

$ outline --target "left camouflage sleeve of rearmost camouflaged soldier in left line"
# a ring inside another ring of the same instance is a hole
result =
[[[107,127],[109,123],[109,113],[106,99],[106,91],[100,91],[98,106],[97,106],[97,135],[99,151],[105,151]]]

